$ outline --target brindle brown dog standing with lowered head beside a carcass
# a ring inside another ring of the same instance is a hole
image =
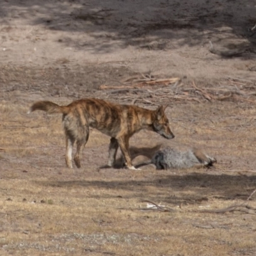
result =
[[[108,166],[115,165],[116,152],[120,147],[125,159],[125,166],[134,170],[129,154],[129,139],[141,129],[157,132],[166,139],[174,138],[164,110],[167,106],[159,106],[156,110],[140,108],[134,105],[114,104],[100,99],[75,100],[67,106],[59,106],[50,101],[35,102],[28,113],[42,110],[47,113],[63,114],[63,126],[66,137],[66,164],[72,168],[72,148],[77,143],[74,162],[81,167],[80,152],[89,138],[89,127],[111,137],[109,143]]]

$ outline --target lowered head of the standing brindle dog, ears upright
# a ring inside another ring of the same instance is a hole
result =
[[[153,122],[153,129],[164,138],[170,140],[173,139],[175,136],[170,129],[169,120],[164,114],[164,110],[167,107],[168,105],[159,106],[159,108],[156,109],[156,119]]]

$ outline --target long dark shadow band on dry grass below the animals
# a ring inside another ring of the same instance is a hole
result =
[[[131,194],[122,196],[122,191],[134,191],[141,200],[161,200],[169,204],[189,202],[194,204],[208,200],[208,197],[234,200],[246,200],[256,187],[256,177],[246,175],[214,175],[209,173],[189,173],[186,175],[166,175],[152,180],[68,180],[68,181],[35,181],[41,186],[77,188],[86,187],[116,190],[115,195],[104,194],[109,197],[134,197]],[[152,192],[148,193],[148,187]],[[182,193],[182,194],[180,194]],[[99,197],[98,195],[90,197]],[[102,198],[102,195],[100,195]]]

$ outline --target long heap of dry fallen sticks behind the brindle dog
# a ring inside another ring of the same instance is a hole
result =
[[[172,100],[191,101],[202,103],[202,99],[212,102],[213,100],[239,100],[255,104],[256,93],[255,82],[248,79],[240,79],[237,77],[227,77],[221,85],[212,87],[199,87],[193,81],[187,86],[180,85],[179,77],[169,79],[156,79],[154,76],[143,75],[129,77],[121,81],[122,86],[108,86],[102,84],[99,89],[106,92],[106,99],[109,97],[125,102],[125,104],[134,104],[134,102],[144,102],[150,105],[164,104]],[[173,83],[173,86],[152,87],[152,85],[164,83]],[[192,85],[192,86],[189,86]],[[195,93],[196,92],[196,93]],[[198,93],[199,92],[199,93]],[[101,92],[102,93],[102,92]],[[115,96],[117,95],[117,96]],[[101,94],[102,97],[102,94]],[[255,100],[254,100],[255,99]]]

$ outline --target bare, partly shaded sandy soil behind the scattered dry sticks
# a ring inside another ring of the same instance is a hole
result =
[[[255,4],[253,0],[3,1],[2,84],[90,89],[148,71],[205,83],[228,76],[252,78]],[[210,40],[216,49],[245,52],[240,58],[220,58],[209,52]],[[26,77],[32,80],[29,85]]]

